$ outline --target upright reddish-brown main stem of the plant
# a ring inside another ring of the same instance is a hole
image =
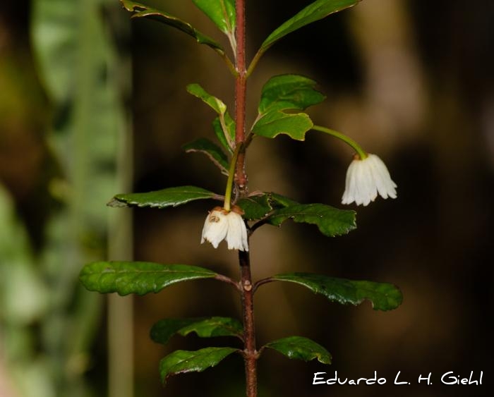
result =
[[[247,175],[245,167],[246,154],[246,0],[235,1],[236,11],[236,71],[235,76],[235,143],[239,148],[236,159],[235,184],[240,196],[245,196],[247,190]],[[239,264],[241,271],[241,301],[243,312],[243,360],[246,366],[246,396],[258,395],[257,360],[258,352],[255,350],[255,326],[254,326],[254,291],[251,277],[251,261],[249,253],[239,251]]]

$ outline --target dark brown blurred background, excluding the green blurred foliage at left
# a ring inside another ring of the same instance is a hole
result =
[[[156,4],[218,37],[188,2]],[[248,1],[248,58],[306,4]],[[16,197],[36,243],[43,209],[35,208],[30,196],[42,189],[36,170],[45,150],[40,137],[47,116],[42,109],[49,105],[30,56],[29,11],[25,2],[2,2],[0,42],[22,54],[21,64],[32,77],[26,84],[40,98],[33,94],[26,99],[28,117],[15,133],[0,127],[0,179]],[[492,393],[493,26],[490,0],[365,0],[287,36],[258,64],[249,81],[248,124],[267,78],[308,75],[327,94],[326,102],[309,110],[315,123],[341,130],[379,154],[398,185],[398,197],[356,208],[359,228],[344,237],[325,238],[311,225],[291,222],[279,230],[265,226],[251,239],[254,278],[313,271],[392,282],[404,294],[397,310],[375,312],[368,303],[328,303],[294,284],[263,286],[255,300],[258,346],[284,336],[307,336],[332,353],[333,365],[267,352],[259,362],[260,396]],[[134,191],[191,184],[222,193],[224,178],[214,166],[200,154],[183,154],[180,147],[212,136],[212,112],[187,94],[185,85],[200,83],[232,106],[228,71],[207,47],[148,20],[133,22],[126,48],[133,60]],[[304,143],[284,137],[255,140],[247,160],[250,190],[342,207],[351,155],[340,142],[315,132]],[[107,198],[102,197],[102,204]],[[235,252],[198,244],[208,205],[135,210],[135,259],[197,264],[236,277]],[[164,391],[159,384],[157,364],[171,349],[229,341],[176,338],[162,348],[147,336],[164,317],[238,316],[239,302],[229,286],[184,283],[135,298],[135,309],[136,396],[243,395],[239,357],[201,374],[175,377]],[[102,396],[104,336],[103,324],[95,343],[98,359],[88,372]],[[312,386],[314,372],[329,377],[335,371],[349,379],[373,377],[377,371],[387,384]],[[411,385],[392,385],[398,371]],[[449,371],[461,377],[474,371],[474,379],[483,371],[483,385],[441,385],[441,374]],[[429,372],[433,385],[417,385],[418,376]]]

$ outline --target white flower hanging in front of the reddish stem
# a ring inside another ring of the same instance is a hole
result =
[[[248,251],[247,228],[240,211],[238,207],[231,211],[222,207],[213,208],[204,222],[200,243],[209,241],[218,248],[219,243],[226,239],[229,250]]]

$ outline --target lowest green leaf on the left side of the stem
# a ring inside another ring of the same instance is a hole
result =
[[[163,384],[168,377],[187,372],[203,372],[209,367],[215,367],[221,360],[236,348],[204,348],[196,351],[176,350],[159,362],[159,374]]]

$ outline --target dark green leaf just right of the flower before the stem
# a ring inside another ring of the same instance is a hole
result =
[[[280,226],[290,218],[297,223],[317,225],[319,231],[329,237],[341,236],[356,228],[354,211],[325,204],[295,204],[277,209],[269,223]]]

